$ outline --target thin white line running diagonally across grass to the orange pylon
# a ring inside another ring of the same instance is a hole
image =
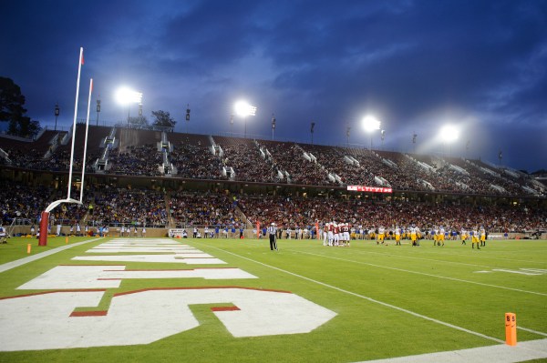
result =
[[[199,243],[199,242],[198,242]],[[467,329],[467,328],[462,328],[462,327],[459,327],[457,325],[453,325],[453,324],[450,324],[450,323],[447,323],[445,321],[442,321],[442,320],[439,320],[439,319],[436,319],[436,318],[430,318],[428,316],[425,316],[425,315],[421,315],[421,314],[418,314],[414,311],[411,311],[411,310],[408,310],[406,308],[399,308],[395,305],[391,305],[391,304],[388,304],[386,302],[383,302],[383,301],[380,301],[380,300],[377,300],[375,298],[372,298],[372,297],[366,297],[364,295],[360,295],[360,294],[357,294],[356,292],[353,292],[353,291],[349,291],[349,290],[345,290],[343,288],[340,288],[340,287],[335,287],[333,285],[329,285],[329,284],[326,284],[325,282],[321,282],[321,281],[317,281],[313,278],[310,278],[310,277],[305,277],[305,276],[302,276],[302,275],[298,275],[294,272],[291,272],[291,271],[287,271],[283,268],[279,268],[279,267],[274,267],[274,266],[271,266],[271,265],[268,265],[268,264],[264,264],[263,262],[260,262],[260,261],[257,261],[257,260],[254,260],[253,258],[249,258],[249,257],[244,257],[244,256],[241,256],[241,255],[238,255],[236,253],[233,253],[233,252],[230,252],[230,251],[227,251],[225,249],[222,249],[222,248],[218,248],[218,247],[212,247],[210,245],[205,245],[205,244],[202,244],[204,246],[207,246],[207,247],[211,247],[211,248],[214,248],[214,249],[217,249],[219,251],[222,251],[224,253],[227,253],[229,255],[232,255],[232,256],[235,256],[235,257],[240,257],[240,258],[243,258],[243,259],[246,259],[248,261],[251,261],[255,264],[258,264],[258,265],[262,265],[264,267],[269,267],[269,268],[273,268],[277,271],[280,271],[280,272],[283,272],[285,274],[288,274],[288,275],[292,275],[294,277],[299,277],[299,278],[303,278],[304,280],[306,281],[310,281],[310,282],[313,282],[317,285],[321,285],[321,286],[324,286],[324,287],[329,287],[329,288],[332,288],[332,289],[335,289],[336,291],[340,291],[340,292],[343,292],[345,294],[348,294],[348,295],[352,295],[354,297],[360,297],[360,298],[363,298],[367,301],[370,301],[370,302],[373,302],[373,303],[376,303],[376,304],[379,304],[379,305],[382,305],[384,307],[387,307],[387,308],[393,308],[395,310],[398,310],[398,311],[401,311],[401,312],[404,312],[404,313],[407,313],[409,315],[412,315],[414,317],[417,317],[417,318],[422,318],[422,319],[425,319],[425,320],[429,320],[431,322],[434,322],[434,323],[437,323],[437,324],[440,324],[440,325],[443,325],[445,327],[448,327],[448,328],[453,328],[453,329],[457,329],[459,331],[463,331],[465,333],[468,333],[468,334],[472,334],[472,335],[475,335],[477,337],[480,337],[480,338],[485,338],[485,339],[489,339],[489,340],[492,340],[492,341],[495,341],[497,343],[504,343],[503,340],[501,339],[498,339],[498,338],[493,338],[493,337],[490,337],[490,336],[487,336],[485,334],[482,334],[482,333],[479,333],[477,331],[473,331],[473,330],[470,330],[470,329]]]

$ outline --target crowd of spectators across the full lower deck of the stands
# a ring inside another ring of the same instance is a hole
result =
[[[72,197],[77,198],[77,191]],[[272,222],[291,229],[310,228],[318,221],[348,222],[352,226],[408,227],[422,230],[443,226],[459,230],[484,226],[491,232],[547,230],[547,210],[532,205],[432,204],[417,201],[378,201],[366,198],[242,196],[212,192],[160,192],[115,187],[88,187],[83,206],[62,204],[51,214],[63,225],[92,226],[261,226]],[[64,192],[0,181],[2,224],[14,218],[35,223]],[[170,219],[171,218],[171,219]],[[85,222],[84,222],[85,221]],[[172,221],[173,223],[169,223]]]

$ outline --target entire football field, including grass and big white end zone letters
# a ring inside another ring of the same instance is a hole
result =
[[[547,241],[404,242],[10,238],[0,362],[502,361],[508,312],[547,358]]]

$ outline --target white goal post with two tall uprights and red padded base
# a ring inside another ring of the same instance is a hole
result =
[[[93,78],[89,80],[89,97],[88,97],[88,116],[86,118],[86,136],[84,138],[84,155],[83,155],[83,161],[82,161],[82,181],[80,185],[80,197],[79,200],[71,198],[70,197],[70,191],[72,187],[72,166],[74,164],[74,144],[76,140],[76,119],[77,119],[77,100],[78,100],[78,94],[79,94],[79,80],[80,80],[80,73],[81,73],[81,67],[84,64],[84,48],[80,47],[80,56],[79,56],[79,62],[77,67],[77,84],[76,84],[76,103],[74,106],[74,121],[72,124],[72,147],[70,150],[70,165],[68,169],[68,192],[67,192],[67,198],[65,199],[59,199],[55,202],[51,203],[49,206],[46,207],[46,209],[41,214],[41,220],[40,220],[40,236],[38,238],[38,246],[47,246],[47,232],[48,232],[48,224],[49,224],[49,213],[57,206],[63,203],[76,203],[81,205],[83,203],[83,197],[84,197],[84,176],[86,173],[86,155],[88,151],[88,129],[89,129],[89,107],[91,105],[91,93],[93,92]]]

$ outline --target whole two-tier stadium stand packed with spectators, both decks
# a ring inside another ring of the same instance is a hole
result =
[[[0,136],[4,226],[36,224],[65,196],[71,134]],[[77,126],[75,170],[85,127]],[[84,203],[57,207],[64,226],[245,226],[315,221],[547,230],[545,179],[480,160],[228,136],[89,126]],[[391,194],[347,186],[392,187]],[[253,187],[252,187],[253,186]],[[79,198],[77,184],[73,197]]]

